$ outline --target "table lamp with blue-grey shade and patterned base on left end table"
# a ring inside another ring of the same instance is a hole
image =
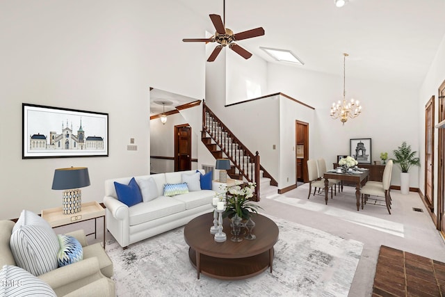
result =
[[[59,168],[54,171],[53,190],[64,190],[62,195],[63,214],[81,211],[81,190],[90,186],[90,175],[86,167]]]

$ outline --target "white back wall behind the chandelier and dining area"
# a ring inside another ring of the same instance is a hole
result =
[[[337,77],[276,63],[268,65],[269,93],[282,92],[316,109],[316,129],[309,131],[309,158],[323,156],[330,168],[338,154],[350,154],[351,138],[371,138],[372,161],[380,160],[380,152],[394,157],[392,151],[403,141],[419,152],[416,88],[348,77],[346,81],[346,99],[359,99],[363,112],[341,125],[339,120],[330,118],[330,106],[343,97],[342,75]],[[394,166],[394,185],[400,185],[399,172],[398,166]],[[418,187],[419,169],[412,168],[410,172],[410,186]]]

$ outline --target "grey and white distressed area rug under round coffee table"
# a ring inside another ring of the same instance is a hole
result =
[[[268,217],[280,230],[273,273],[266,270],[247,280],[206,275],[197,280],[184,227],[127,250],[108,240],[106,252],[113,260],[118,296],[348,296],[363,243]]]

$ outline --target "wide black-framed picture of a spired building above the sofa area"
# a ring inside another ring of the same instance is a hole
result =
[[[22,104],[22,159],[108,156],[108,113]]]

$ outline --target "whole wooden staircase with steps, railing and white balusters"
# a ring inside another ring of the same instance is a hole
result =
[[[277,185],[261,167],[259,153],[252,154],[205,103],[202,108],[201,140],[215,159],[227,158],[232,162],[231,169],[227,170],[229,177],[257,184],[253,200],[259,201],[261,188]]]

